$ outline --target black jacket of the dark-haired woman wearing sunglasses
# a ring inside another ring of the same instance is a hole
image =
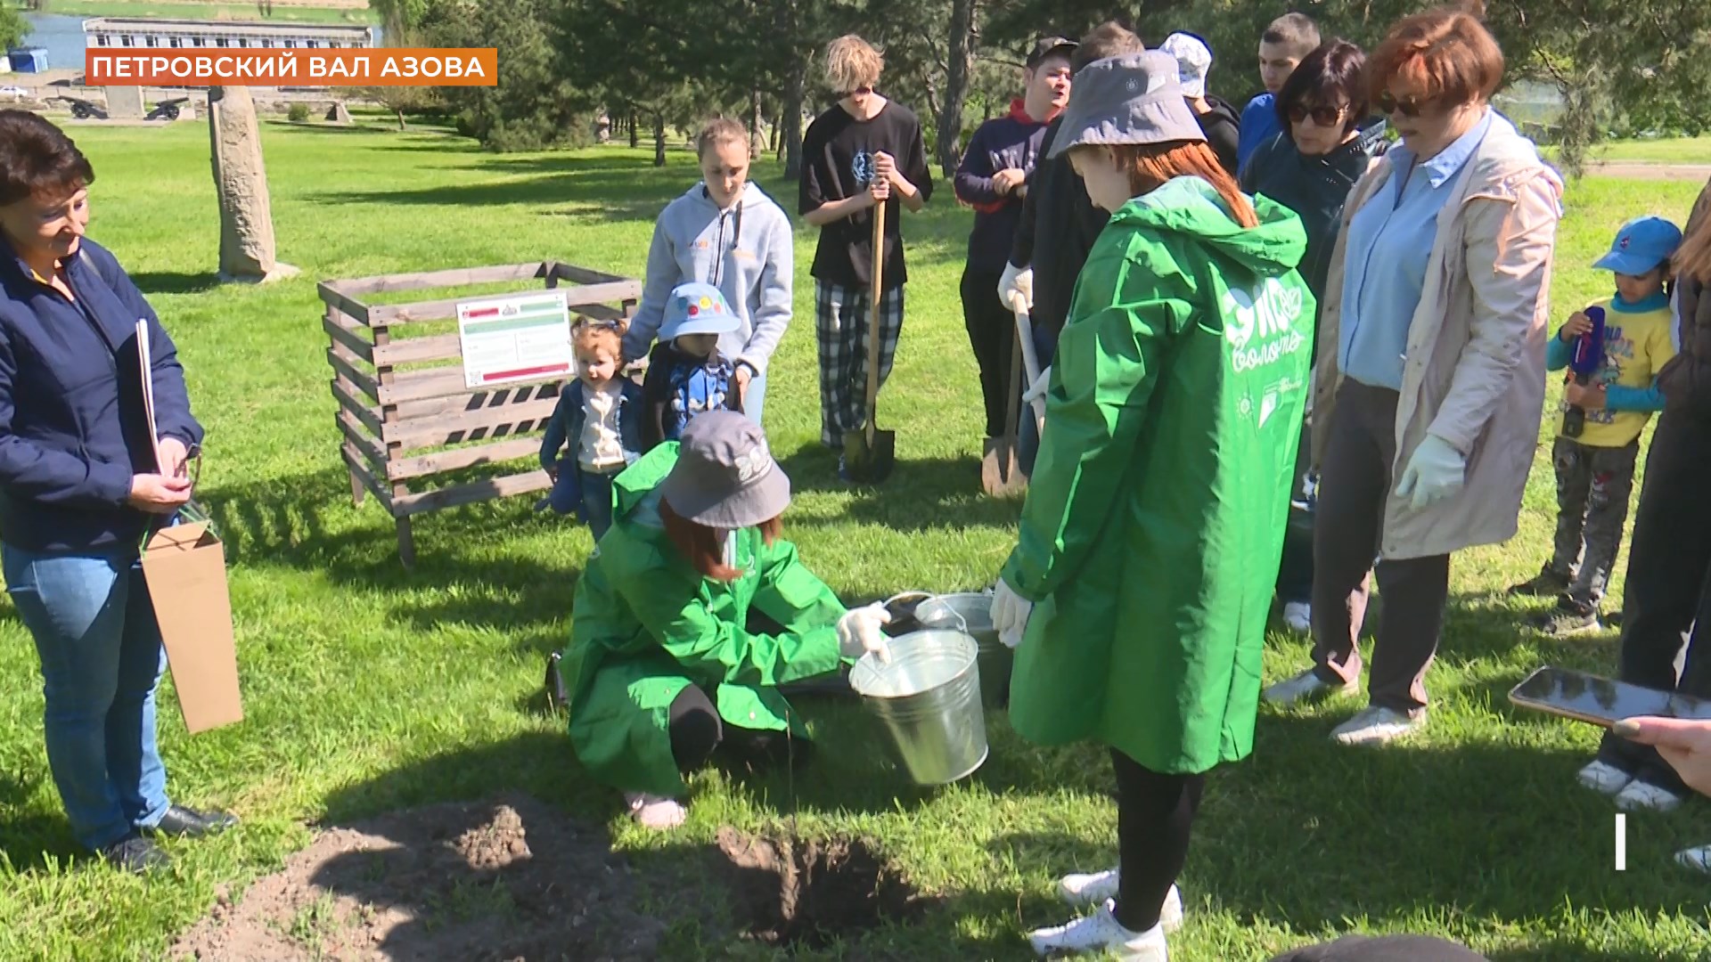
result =
[[[1371,122],[1360,135],[1323,157],[1309,157],[1295,149],[1288,134],[1278,134],[1254,151],[1242,171],[1244,193],[1264,193],[1300,216],[1307,228],[1307,257],[1300,277],[1312,296],[1324,303],[1324,282],[1331,272],[1331,250],[1343,229],[1343,202],[1372,161],[1384,154],[1386,123]]]

